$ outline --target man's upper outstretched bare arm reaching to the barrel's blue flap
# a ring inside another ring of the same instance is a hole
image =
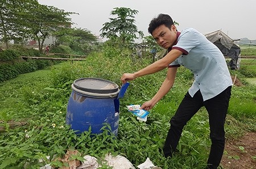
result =
[[[180,50],[173,49],[169,53],[166,54],[162,59],[154,62],[151,65],[148,65],[144,69],[141,69],[135,73],[125,73],[121,77],[122,83],[125,83],[127,81],[132,81],[135,78],[142,77],[143,75],[156,73],[160,70],[163,70],[164,68],[168,67],[168,65],[171,64],[171,62],[175,61],[177,57],[179,57],[182,54]]]

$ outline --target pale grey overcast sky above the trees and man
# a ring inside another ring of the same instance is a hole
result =
[[[160,13],[169,14],[179,23],[178,31],[193,27],[205,34],[221,29],[232,39],[247,37],[256,40],[255,0],[38,0],[40,4],[55,6],[71,15],[72,27],[86,28],[100,35],[102,24],[109,22],[114,7],[138,10],[135,15],[138,30],[148,36],[151,19]]]

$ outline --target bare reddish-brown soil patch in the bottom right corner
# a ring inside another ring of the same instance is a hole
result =
[[[246,133],[239,140],[227,140],[221,166],[224,169],[256,168],[256,132]]]

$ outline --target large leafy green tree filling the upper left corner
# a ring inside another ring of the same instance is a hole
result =
[[[44,40],[54,31],[71,27],[71,14],[36,0],[1,0],[0,35],[7,42],[14,39],[35,39],[42,51]],[[8,45],[7,45],[8,47]]]

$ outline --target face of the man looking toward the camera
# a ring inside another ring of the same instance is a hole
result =
[[[176,41],[176,27],[172,25],[170,29],[162,24],[152,32],[152,36],[154,37],[158,45],[160,45],[164,49],[168,49],[172,47],[172,45],[174,45],[174,42]]]

